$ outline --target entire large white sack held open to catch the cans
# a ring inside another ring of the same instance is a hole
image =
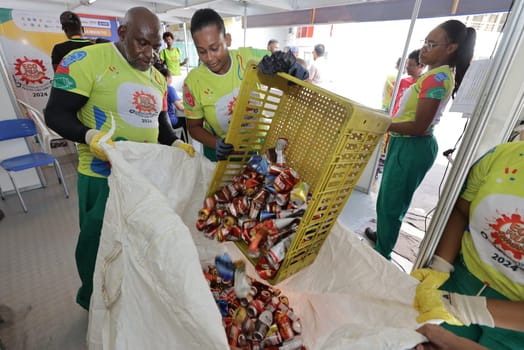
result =
[[[214,163],[117,142],[95,269],[90,349],[228,349],[202,265],[225,250],[195,228]],[[248,264],[248,274],[255,277]],[[336,224],[315,262],[281,282],[308,349],[409,349],[418,282]]]

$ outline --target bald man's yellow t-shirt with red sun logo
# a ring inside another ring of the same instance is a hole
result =
[[[71,51],[57,68],[53,87],[88,97],[78,119],[91,129],[109,131],[113,140],[157,143],[158,115],[166,91],[164,76],[154,68],[134,69],[113,43]],[[110,173],[107,162],[95,158],[89,145],[78,146],[78,172],[93,177]]]

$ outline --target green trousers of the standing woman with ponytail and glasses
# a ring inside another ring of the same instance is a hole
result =
[[[437,157],[437,140],[431,136],[395,137],[389,140],[377,198],[377,244],[386,259],[397,243],[400,226],[415,190]]]

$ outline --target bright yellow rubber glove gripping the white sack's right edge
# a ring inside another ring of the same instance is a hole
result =
[[[418,269],[411,272],[411,276],[420,281],[413,302],[413,306],[419,312],[417,322],[423,323],[429,320],[443,320],[451,325],[463,325],[463,323],[446,308],[442,298],[445,292],[438,290],[449,278],[449,273],[432,269]]]

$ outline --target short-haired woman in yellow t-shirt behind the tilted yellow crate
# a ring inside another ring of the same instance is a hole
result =
[[[249,60],[269,52],[253,48],[229,50],[224,21],[213,9],[197,10],[191,36],[202,64],[184,81],[184,109],[191,137],[204,145],[204,155],[225,159],[233,146],[224,142],[236,97]]]

